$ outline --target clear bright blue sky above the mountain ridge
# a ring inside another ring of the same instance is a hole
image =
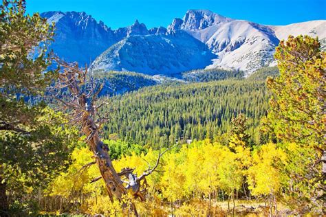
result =
[[[50,10],[87,12],[116,29],[138,19],[147,27],[164,26],[188,9],[208,9],[233,19],[286,25],[326,19],[326,0],[27,0],[28,13]]]

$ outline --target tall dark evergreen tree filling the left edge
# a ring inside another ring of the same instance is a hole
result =
[[[0,216],[8,216],[13,201],[30,206],[36,187],[67,168],[76,132],[65,129],[62,114],[37,103],[55,76],[44,72],[52,25],[25,14],[23,0],[5,0],[0,10]]]

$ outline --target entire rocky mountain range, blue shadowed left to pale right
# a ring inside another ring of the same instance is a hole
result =
[[[326,42],[325,20],[271,26],[209,10],[188,10],[167,29],[148,30],[135,21],[129,27],[111,30],[85,12],[45,12],[41,16],[56,23],[54,52],[81,65],[94,61],[94,69],[171,75],[221,67],[242,70],[248,76],[274,64],[274,49],[289,34],[309,34]]]

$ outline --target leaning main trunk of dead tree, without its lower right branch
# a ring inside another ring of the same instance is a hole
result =
[[[127,187],[124,187],[120,176],[113,168],[108,153],[109,148],[101,141],[98,133],[101,124],[107,122],[107,118],[102,118],[97,113],[104,103],[100,105],[94,104],[103,84],[96,89],[96,85],[89,83],[89,87],[87,86],[87,68],[85,70],[79,69],[78,64],[68,64],[58,58],[56,58],[56,62],[63,67],[61,73],[58,74],[56,87],[60,89],[67,88],[70,92],[69,97],[63,98],[60,95],[56,97],[56,100],[60,101],[65,109],[72,110],[72,113],[70,113],[71,123],[81,125],[82,131],[87,137],[87,144],[94,153],[96,164],[102,179],[105,181],[105,187],[111,201],[113,201],[113,198],[118,199],[120,202],[123,201],[122,208],[124,210],[128,209],[126,210],[128,216],[130,215],[129,212],[138,216],[133,202],[129,201],[128,198],[123,198],[123,196],[127,196]],[[84,87],[84,91],[87,89],[89,93],[84,93],[82,87]],[[127,199],[127,202],[125,199]]]

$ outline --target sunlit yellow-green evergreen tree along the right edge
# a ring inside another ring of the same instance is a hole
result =
[[[265,128],[285,144],[289,162],[287,201],[301,212],[320,207],[325,155],[325,52],[318,38],[289,36],[276,47],[280,76],[268,78],[274,93]]]

